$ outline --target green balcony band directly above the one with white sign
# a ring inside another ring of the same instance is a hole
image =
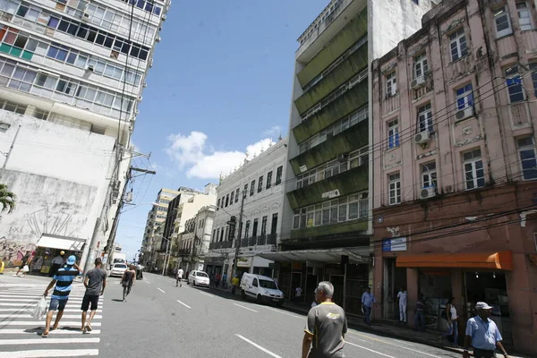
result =
[[[293,167],[294,175],[299,175],[301,174],[301,166],[306,166],[307,170],[313,169],[322,163],[336,159],[338,154],[362,148],[368,141],[369,121],[363,120],[359,124],[354,124],[354,126],[337,133],[327,141],[323,141],[310,150],[303,152],[303,154],[294,157],[289,162]]]

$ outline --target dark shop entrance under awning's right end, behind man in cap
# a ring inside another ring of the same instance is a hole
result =
[[[475,316],[475,303],[486,302],[494,307],[490,320],[494,320],[507,345],[513,344],[506,276],[503,272],[465,272],[467,317]]]

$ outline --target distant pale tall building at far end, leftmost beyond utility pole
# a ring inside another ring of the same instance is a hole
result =
[[[146,221],[145,230],[143,231],[143,239],[141,241],[141,254],[144,255],[142,262],[147,265],[149,258],[157,247],[155,246],[155,234],[158,226],[164,225],[168,205],[175,197],[179,195],[178,191],[162,188],[158,191],[157,200],[153,203],[153,207],[149,210],[148,219]]]

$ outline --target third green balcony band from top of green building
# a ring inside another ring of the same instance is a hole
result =
[[[294,127],[294,139],[298,143],[302,143],[313,134],[328,127],[328,125],[334,124],[338,119],[350,115],[358,108],[365,106],[368,100],[368,81],[365,79],[352,89],[347,90],[344,95],[323,107],[318,113],[311,115],[303,123]]]

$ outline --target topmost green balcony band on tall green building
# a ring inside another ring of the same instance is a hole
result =
[[[337,60],[340,55],[353,46],[353,44],[367,33],[367,8],[358,13],[353,20],[339,31],[326,47],[315,55],[296,75],[301,86],[304,87],[320,72]]]

